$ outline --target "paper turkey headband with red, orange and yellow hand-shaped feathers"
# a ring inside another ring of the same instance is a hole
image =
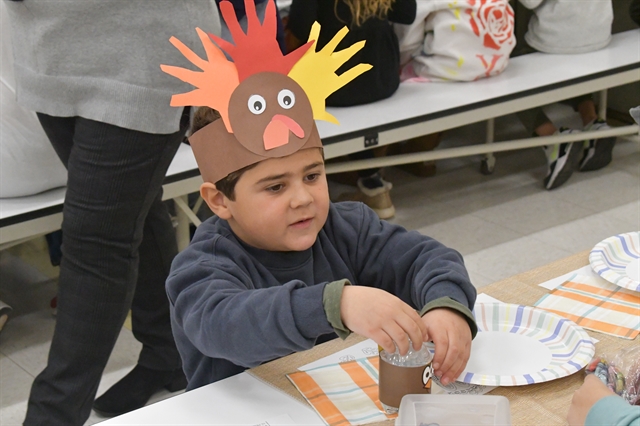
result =
[[[365,43],[360,41],[335,52],[348,32],[346,27],[316,52],[320,24],[315,22],[309,41],[283,55],[276,40],[274,1],[268,0],[262,24],[254,0],[245,0],[245,9],[246,34],[231,2],[220,3],[234,44],[196,28],[206,60],[171,37],[171,44],[202,71],[160,66],[165,73],[196,88],[173,95],[171,106],[207,106],[220,113],[221,119],[189,137],[205,182],[215,183],[229,173],[267,158],[321,148],[314,120],[338,124],[325,110],[326,98],[371,69],[369,64],[358,64],[341,75],[335,73]],[[229,61],[223,51],[233,61]]]

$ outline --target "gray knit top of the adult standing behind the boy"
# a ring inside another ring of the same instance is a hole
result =
[[[179,130],[171,95],[193,90],[160,64],[194,69],[169,43],[201,57],[195,27],[220,34],[213,0],[25,0],[5,2],[17,98],[45,114],[80,116],[147,133]]]

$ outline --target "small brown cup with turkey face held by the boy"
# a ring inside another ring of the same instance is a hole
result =
[[[380,402],[397,410],[403,396],[431,393],[432,377],[431,362],[419,367],[400,367],[389,364],[381,357],[378,385]]]

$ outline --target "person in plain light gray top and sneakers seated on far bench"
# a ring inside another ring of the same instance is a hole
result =
[[[573,0],[519,0],[533,10],[524,36],[527,47],[519,53],[573,54],[602,49],[611,41],[613,7],[611,0],[576,2]],[[592,95],[567,101],[580,114],[584,131],[607,130],[609,125],[596,113]],[[530,134],[551,136],[580,132],[557,128],[542,108],[521,111],[518,117]],[[575,169],[599,170],[611,162],[615,137],[562,143],[544,148],[547,157],[546,189],[563,185]]]

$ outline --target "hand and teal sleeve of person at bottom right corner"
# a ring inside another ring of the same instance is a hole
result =
[[[637,426],[640,406],[630,405],[595,374],[589,374],[573,394],[567,422],[569,426]]]

